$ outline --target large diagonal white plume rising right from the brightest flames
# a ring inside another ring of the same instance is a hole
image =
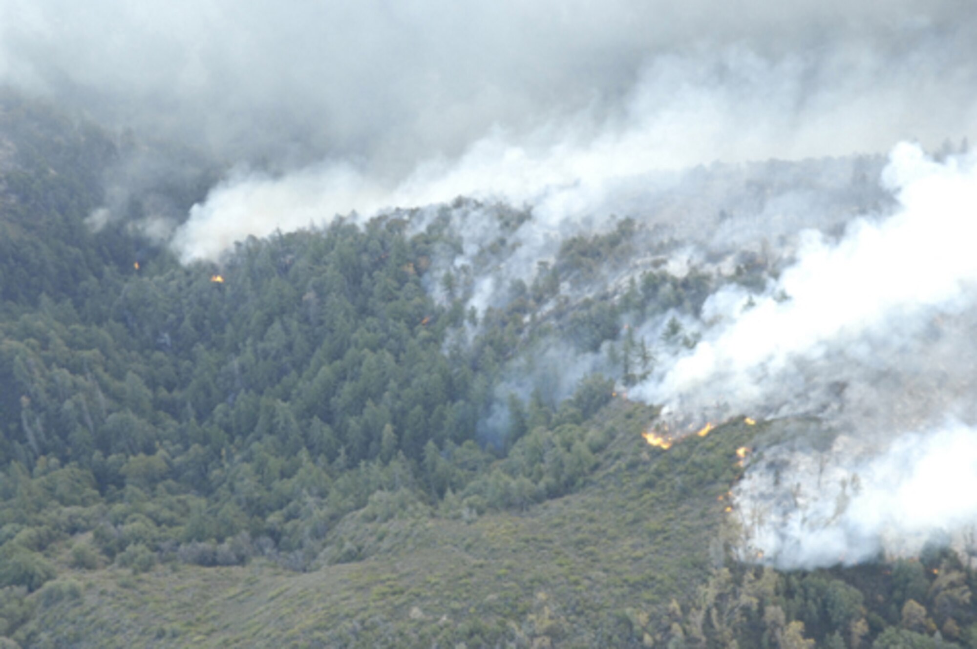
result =
[[[840,241],[808,231],[798,261],[762,298],[722,290],[704,307],[714,326],[688,356],[643,386],[654,401],[693,394],[755,407],[769,399],[765,382],[799,360],[817,362],[849,346],[853,360],[871,337],[887,344],[907,338],[939,315],[973,299],[977,257],[977,165],[974,157],[946,163],[902,144],[892,152],[883,183],[898,198],[886,218],[849,224]],[[912,338],[909,338],[912,340]]]

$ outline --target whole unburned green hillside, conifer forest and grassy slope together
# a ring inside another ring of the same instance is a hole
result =
[[[120,189],[153,158],[180,172]],[[476,309],[531,215],[459,198],[182,265],[149,224],[223,168],[0,95],[0,646],[977,646],[952,550],[743,562],[729,492],[776,422],[642,438],[626,389],[768,260],[615,283],[622,219]]]

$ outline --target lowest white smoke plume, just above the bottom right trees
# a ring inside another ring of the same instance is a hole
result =
[[[886,445],[841,436],[827,451],[777,448],[735,495],[742,553],[779,568],[918,556],[949,540],[977,551],[977,429],[952,422]]]

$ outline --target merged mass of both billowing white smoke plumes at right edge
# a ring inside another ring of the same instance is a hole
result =
[[[895,148],[898,206],[830,240],[810,232],[762,297],[723,289],[695,349],[631,391],[675,413],[815,412],[735,489],[745,555],[782,568],[919,551],[977,526],[977,158]],[[948,414],[961,417],[946,423]]]

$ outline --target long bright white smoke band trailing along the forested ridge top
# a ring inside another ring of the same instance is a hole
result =
[[[185,260],[214,259],[248,235],[458,195],[529,204],[536,229],[565,238],[633,210],[650,195],[641,183],[654,188],[663,170],[887,150],[906,133],[932,139],[933,124],[899,95],[908,80],[892,78],[892,66],[847,48],[814,62],[806,53],[771,59],[743,46],[660,55],[610,117],[595,121],[581,111],[529,133],[495,129],[457,157],[417,159],[400,180],[372,178],[345,161],[274,179],[237,175],[194,207],[174,245]],[[867,86],[869,79],[892,86]],[[940,123],[968,129],[977,109],[960,108],[965,115],[957,108]]]

